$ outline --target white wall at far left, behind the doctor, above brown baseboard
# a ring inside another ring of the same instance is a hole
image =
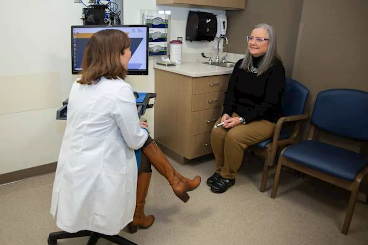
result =
[[[75,80],[70,26],[81,24],[82,11],[73,1],[7,2],[0,15],[0,175],[57,161],[66,122],[56,120],[56,110]],[[40,7],[42,14],[29,17]]]

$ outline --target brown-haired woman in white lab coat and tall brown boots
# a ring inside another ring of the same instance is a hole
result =
[[[123,80],[130,57],[130,39],[118,30],[99,31],[86,46],[52,192],[51,213],[66,232],[116,235],[127,225],[131,232],[150,227],[154,217],[145,216],[144,204],[151,164],[184,202],[200,184],[199,176],[190,180],[174,170],[139,122],[133,90]]]

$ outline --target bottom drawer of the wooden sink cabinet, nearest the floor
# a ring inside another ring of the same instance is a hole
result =
[[[210,133],[190,137],[190,148],[188,159],[205,156],[210,153],[212,153]]]

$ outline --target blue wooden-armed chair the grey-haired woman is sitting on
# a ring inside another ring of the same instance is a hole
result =
[[[301,122],[309,117],[309,114],[303,114],[308,95],[309,90],[304,85],[294,79],[287,78],[286,89],[281,102],[283,117],[277,121],[273,137],[251,148],[254,152],[261,151],[261,154],[257,155],[263,155],[265,158],[261,192],[266,189],[268,170],[275,162],[277,148],[295,143],[300,133]]]

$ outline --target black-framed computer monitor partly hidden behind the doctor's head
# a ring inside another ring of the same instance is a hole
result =
[[[72,74],[82,71],[84,50],[89,38],[104,29],[117,29],[128,34],[132,57],[128,64],[129,75],[148,75],[148,26],[146,25],[80,25],[71,27]]]

